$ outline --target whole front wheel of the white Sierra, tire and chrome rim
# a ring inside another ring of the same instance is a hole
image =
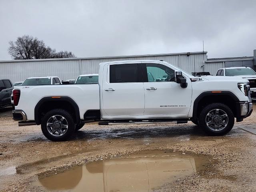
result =
[[[201,111],[199,126],[209,135],[220,136],[227,134],[234,126],[232,110],[222,103],[212,103]]]

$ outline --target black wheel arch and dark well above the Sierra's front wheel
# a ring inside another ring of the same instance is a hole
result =
[[[232,110],[234,116],[236,117],[236,105],[235,102],[239,102],[239,99],[230,91],[212,92],[206,91],[201,93],[193,104],[193,114],[192,118],[195,120],[199,116],[199,112],[202,108],[210,103],[221,102],[226,104]]]

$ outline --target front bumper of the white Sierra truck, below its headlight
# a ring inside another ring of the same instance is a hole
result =
[[[252,114],[252,102],[236,102],[236,122]]]

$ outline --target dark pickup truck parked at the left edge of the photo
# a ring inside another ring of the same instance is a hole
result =
[[[0,79],[0,108],[12,106],[11,94],[13,85],[9,79]]]

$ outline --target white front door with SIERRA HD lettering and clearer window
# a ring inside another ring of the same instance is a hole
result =
[[[174,69],[163,64],[142,62],[145,92],[145,116],[187,117],[191,105],[192,87],[181,88],[174,82]]]

